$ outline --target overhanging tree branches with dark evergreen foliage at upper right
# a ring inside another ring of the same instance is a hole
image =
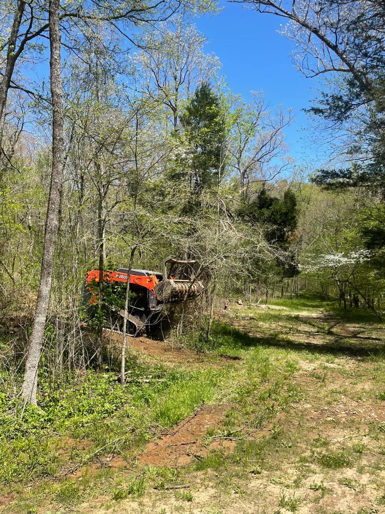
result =
[[[331,74],[326,89],[310,109],[347,130],[344,153],[365,167],[360,183],[385,183],[385,8],[382,0],[244,0],[260,13],[275,14],[287,24],[282,33],[295,41],[295,64],[306,77]],[[341,152],[342,153],[342,152]],[[333,170],[331,179],[339,175]],[[344,185],[357,174],[340,173]],[[327,180],[326,174],[324,178]]]

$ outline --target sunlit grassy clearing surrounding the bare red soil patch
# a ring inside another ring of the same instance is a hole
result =
[[[75,408],[65,421],[51,421],[49,430],[65,426],[76,440],[92,441],[94,446],[83,456],[71,455],[72,462],[124,434],[119,448],[109,448],[129,452],[129,468],[57,483],[47,478],[29,492],[12,484],[16,499],[5,512],[69,514],[88,512],[92,506],[98,512],[243,514],[254,512],[256,505],[261,514],[382,512],[383,326],[371,325],[368,332],[365,325],[357,332],[355,322],[352,332],[346,320],[336,325],[322,315],[327,303],[296,302],[286,301],[290,310],[235,306],[214,324],[213,353],[240,360],[202,366],[198,372],[149,370],[132,363],[137,383],[125,388],[112,379],[109,386],[90,384],[89,390],[100,388],[103,395],[95,392],[86,409],[80,401],[82,413]],[[156,380],[140,381],[149,374]],[[208,429],[203,456],[193,454],[192,463],[179,469],[167,463],[137,464],[135,449],[151,434],[212,401],[231,406],[221,425]],[[52,407],[53,412],[61,408]],[[231,450],[218,446],[226,440],[235,445]],[[57,465],[55,458],[52,465]],[[191,487],[168,489],[180,484]]]

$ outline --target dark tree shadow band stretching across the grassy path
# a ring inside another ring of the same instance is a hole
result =
[[[348,355],[350,357],[375,357],[385,360],[385,344],[363,344],[361,341],[342,342],[341,339],[351,339],[351,336],[337,337],[335,342],[300,342],[293,339],[281,339],[279,334],[269,336],[251,336],[226,323],[217,323],[214,331],[216,346],[226,345],[229,348],[246,350],[256,346],[284,348],[297,352],[313,354]]]

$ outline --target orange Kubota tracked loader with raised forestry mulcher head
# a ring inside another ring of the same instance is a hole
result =
[[[183,261],[169,257],[163,261],[163,273],[127,268],[105,271],[103,290],[104,295],[109,298],[108,308],[112,329],[123,332],[124,309],[114,306],[114,298],[122,299],[124,296],[128,272],[130,302],[126,333],[136,336],[161,320],[165,305],[181,303],[196,298],[202,293],[204,286],[195,278],[192,267],[195,263],[196,261],[192,260]],[[98,304],[99,277],[99,270],[94,269],[87,273],[84,280],[83,296],[89,311],[92,306]]]

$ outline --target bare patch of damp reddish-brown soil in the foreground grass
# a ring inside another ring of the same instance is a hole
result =
[[[201,457],[208,452],[203,445],[203,437],[207,430],[216,426],[229,404],[208,405],[199,412],[184,419],[172,432],[157,441],[151,442],[139,457],[141,464],[153,466],[184,466],[192,461],[194,456]],[[211,448],[222,446],[234,449],[234,441],[216,441]]]

